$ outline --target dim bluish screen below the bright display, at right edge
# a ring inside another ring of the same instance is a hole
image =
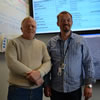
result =
[[[100,34],[84,35],[84,37],[93,57],[95,78],[100,79]]]

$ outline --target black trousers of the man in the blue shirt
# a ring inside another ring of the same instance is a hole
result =
[[[62,93],[52,90],[51,100],[81,100],[81,96],[81,88],[69,93]]]

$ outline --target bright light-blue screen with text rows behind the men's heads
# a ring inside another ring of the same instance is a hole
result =
[[[57,14],[69,11],[73,31],[100,29],[100,0],[33,0],[37,33],[58,32]]]

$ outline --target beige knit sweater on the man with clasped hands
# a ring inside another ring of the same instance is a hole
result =
[[[37,39],[26,40],[22,36],[10,40],[5,52],[9,68],[9,83],[37,87],[26,78],[26,73],[39,70],[43,77],[51,69],[50,57],[45,44]]]

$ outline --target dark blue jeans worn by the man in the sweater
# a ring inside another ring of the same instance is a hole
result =
[[[42,100],[42,86],[35,89],[25,89],[18,86],[9,86],[8,100]]]

